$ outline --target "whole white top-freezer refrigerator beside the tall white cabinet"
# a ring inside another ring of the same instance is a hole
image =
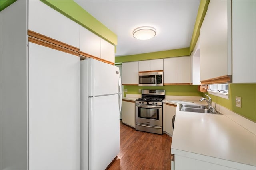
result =
[[[80,170],[104,170],[120,151],[119,68],[80,61]]]

